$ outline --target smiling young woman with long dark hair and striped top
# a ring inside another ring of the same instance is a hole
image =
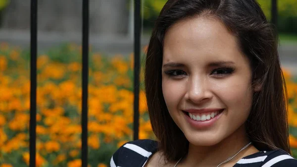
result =
[[[158,141],[124,144],[111,167],[297,167],[277,36],[256,0],[168,0],[145,86]]]

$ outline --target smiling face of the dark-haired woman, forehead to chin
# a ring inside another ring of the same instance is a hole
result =
[[[191,144],[211,146],[245,133],[254,91],[251,69],[236,38],[217,19],[194,17],[168,29],[162,90],[171,117]]]

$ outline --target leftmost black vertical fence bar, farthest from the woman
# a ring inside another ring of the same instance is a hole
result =
[[[31,0],[30,13],[30,143],[29,167],[36,166],[36,89],[37,89],[37,0]]]

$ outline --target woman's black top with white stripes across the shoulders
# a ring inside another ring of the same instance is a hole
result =
[[[128,142],[113,154],[110,167],[144,167],[156,151],[153,140]],[[261,151],[240,159],[233,167],[297,167],[297,160],[282,150]]]

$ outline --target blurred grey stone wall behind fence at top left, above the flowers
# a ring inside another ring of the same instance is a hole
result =
[[[90,0],[90,33],[128,33],[129,0]],[[30,0],[10,0],[1,29],[30,30]],[[82,0],[38,0],[38,30],[81,32]]]

